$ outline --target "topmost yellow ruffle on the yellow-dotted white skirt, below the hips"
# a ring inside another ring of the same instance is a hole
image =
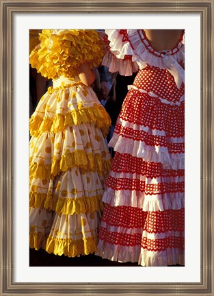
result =
[[[105,108],[100,105],[94,105],[91,108],[75,109],[67,112],[65,115],[56,114],[54,118],[31,116],[29,119],[29,128],[31,136],[39,136],[43,132],[64,131],[66,127],[79,125],[81,123],[96,123],[102,130],[103,136],[107,136],[111,119]]]

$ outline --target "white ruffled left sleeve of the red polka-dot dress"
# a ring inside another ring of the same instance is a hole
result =
[[[119,72],[120,75],[131,76],[139,70],[135,55],[129,40],[124,40],[124,34],[120,29],[106,29],[108,39],[107,53],[102,64],[109,68],[112,73]],[[146,66],[146,64],[145,64]]]

